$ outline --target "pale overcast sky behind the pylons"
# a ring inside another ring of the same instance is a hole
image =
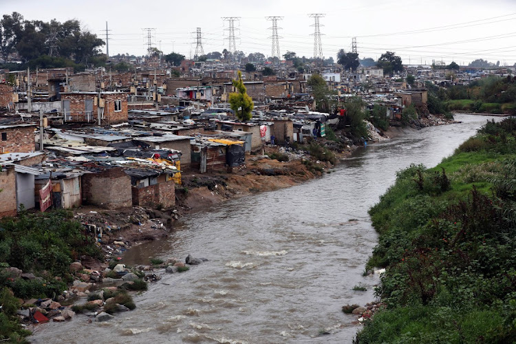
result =
[[[403,63],[469,63],[484,58],[500,64],[516,63],[515,0],[397,0],[397,1],[135,1],[135,0],[0,0],[1,13],[13,11],[25,19],[49,21],[78,19],[84,28],[105,38],[105,22],[111,30],[110,54],[145,54],[147,32],[156,28],[155,47],[167,54],[179,52],[187,58],[195,52],[195,30],[202,30],[204,52],[228,48],[227,22],[221,17],[241,17],[235,26],[237,50],[246,54],[271,54],[270,21],[281,16],[281,54],[313,56],[310,36],[314,19],[320,19],[325,57],[336,57],[343,48],[351,50],[356,37],[361,58],[378,58],[394,51]],[[105,50],[105,47],[104,47]]]

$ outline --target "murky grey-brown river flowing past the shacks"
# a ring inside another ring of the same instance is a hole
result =
[[[332,173],[289,189],[231,200],[178,223],[166,241],[131,248],[124,261],[209,259],[164,275],[137,308],[106,323],[75,316],[36,328],[34,343],[351,343],[360,325],[347,303],[374,301],[364,277],[377,236],[367,209],[409,164],[435,166],[489,117],[409,131],[358,149]],[[367,291],[354,291],[354,286]],[[330,334],[320,335],[322,332]]]

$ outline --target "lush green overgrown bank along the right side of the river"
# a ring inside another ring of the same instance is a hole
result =
[[[410,166],[369,211],[387,308],[357,343],[516,341],[516,120],[433,169]]]

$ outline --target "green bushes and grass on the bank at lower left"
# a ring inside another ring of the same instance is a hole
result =
[[[0,341],[23,342],[20,299],[55,298],[74,280],[69,265],[80,256],[101,257],[72,212],[28,214],[0,222]],[[23,275],[22,275],[23,274]]]

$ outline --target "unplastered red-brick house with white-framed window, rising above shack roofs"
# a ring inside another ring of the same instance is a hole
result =
[[[98,124],[99,119],[100,125],[127,122],[127,93],[62,92],[61,111],[65,122]]]

